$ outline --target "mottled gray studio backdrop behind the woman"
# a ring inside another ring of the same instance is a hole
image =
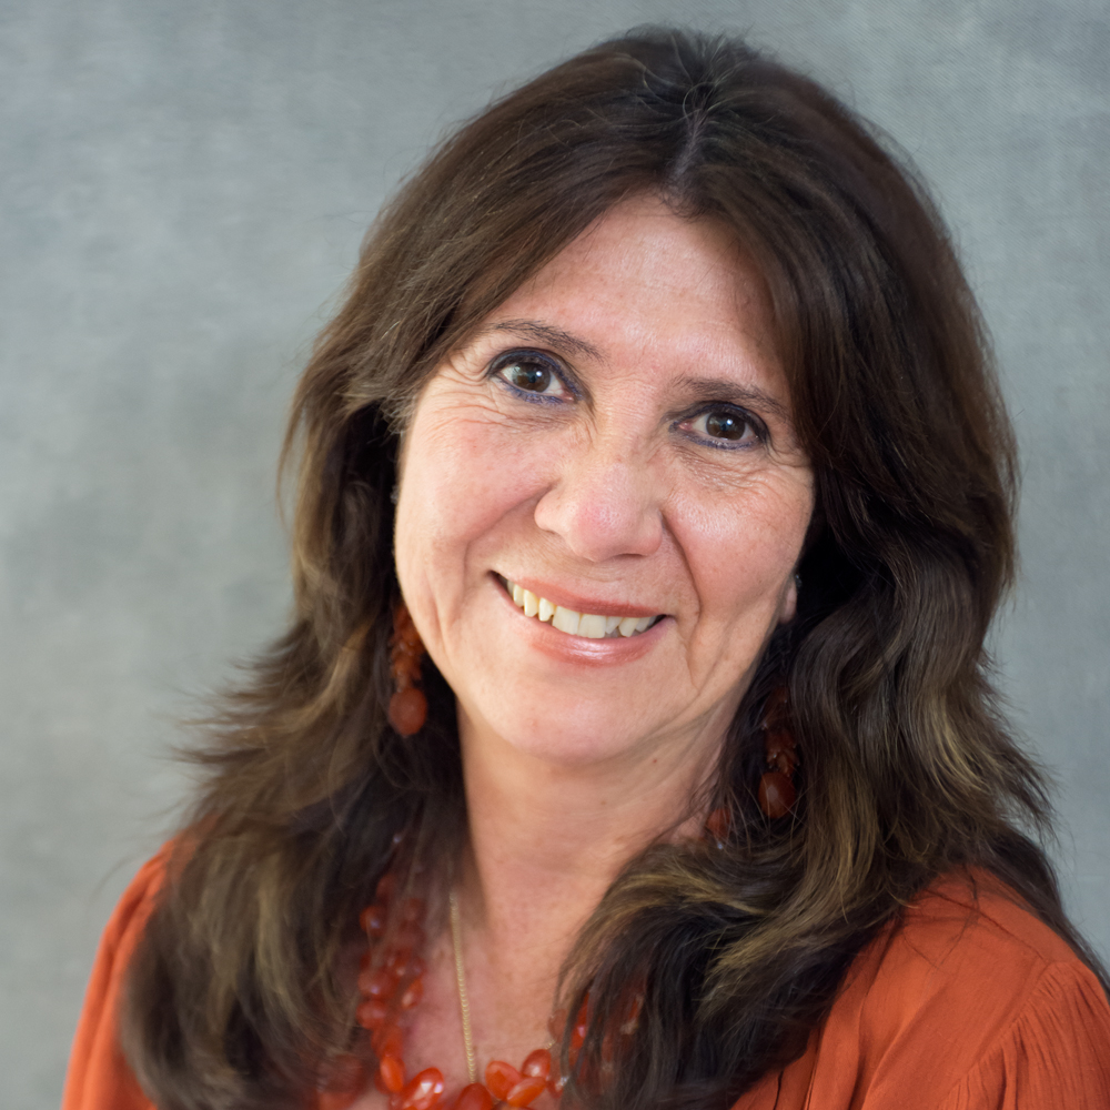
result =
[[[998,654],[1110,950],[1104,0],[0,0],[0,1104],[57,1104],[175,719],[285,614],[273,472],[363,230],[453,121],[649,21],[747,30],[935,184],[1023,448]]]

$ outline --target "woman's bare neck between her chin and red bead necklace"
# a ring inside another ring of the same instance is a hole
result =
[[[470,839],[457,889],[494,968],[512,973],[519,956],[554,985],[628,860],[658,839],[698,835],[705,815],[692,814],[690,799],[716,766],[723,733],[567,766],[518,750],[460,709]]]

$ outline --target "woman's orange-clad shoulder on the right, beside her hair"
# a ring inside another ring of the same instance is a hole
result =
[[[815,1083],[855,1092],[829,1089],[814,1106],[1106,1107],[1110,1005],[1012,890],[953,876],[857,959],[814,1063]]]

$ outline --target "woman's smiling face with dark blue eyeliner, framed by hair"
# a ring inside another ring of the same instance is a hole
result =
[[[763,282],[654,199],[437,367],[401,474],[397,573],[461,724],[542,759],[715,745],[794,615],[813,477]]]

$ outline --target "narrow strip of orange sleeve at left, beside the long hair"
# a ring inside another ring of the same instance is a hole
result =
[[[104,928],[73,1038],[62,1110],[155,1110],[120,1050],[118,1011],[128,961],[154,908],[168,851],[143,865]]]

